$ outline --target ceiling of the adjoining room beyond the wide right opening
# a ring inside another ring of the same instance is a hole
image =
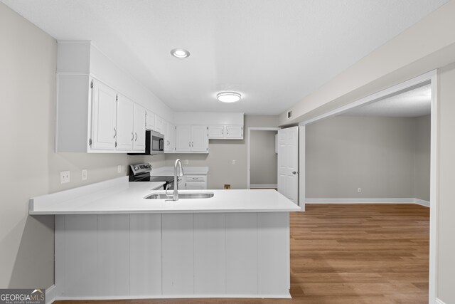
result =
[[[432,89],[424,85],[343,113],[343,116],[419,117],[431,113]]]

